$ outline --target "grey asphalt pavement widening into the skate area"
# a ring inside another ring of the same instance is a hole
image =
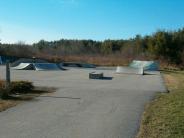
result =
[[[98,70],[106,79],[90,80]],[[5,67],[0,67],[4,78]],[[111,69],[11,70],[12,80],[57,87],[55,93],[0,113],[0,138],[134,138],[146,103],[165,92],[162,76]]]

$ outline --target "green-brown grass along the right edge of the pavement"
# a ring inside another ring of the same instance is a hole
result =
[[[138,138],[184,138],[184,71],[163,71],[170,93],[147,105]]]

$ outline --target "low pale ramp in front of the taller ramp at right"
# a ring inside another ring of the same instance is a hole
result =
[[[144,71],[143,71],[143,68],[131,68],[131,67],[121,67],[121,66],[118,66],[117,69],[116,69],[116,73],[118,73],[118,74],[143,75]]]

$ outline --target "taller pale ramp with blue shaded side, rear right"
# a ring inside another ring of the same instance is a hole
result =
[[[159,70],[159,64],[155,61],[139,61],[134,60],[129,65],[132,68],[139,69],[144,68],[144,71],[158,71]]]

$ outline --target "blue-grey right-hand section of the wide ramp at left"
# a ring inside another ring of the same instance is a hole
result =
[[[44,70],[61,70],[57,64],[54,63],[35,63],[35,70],[44,71]]]

